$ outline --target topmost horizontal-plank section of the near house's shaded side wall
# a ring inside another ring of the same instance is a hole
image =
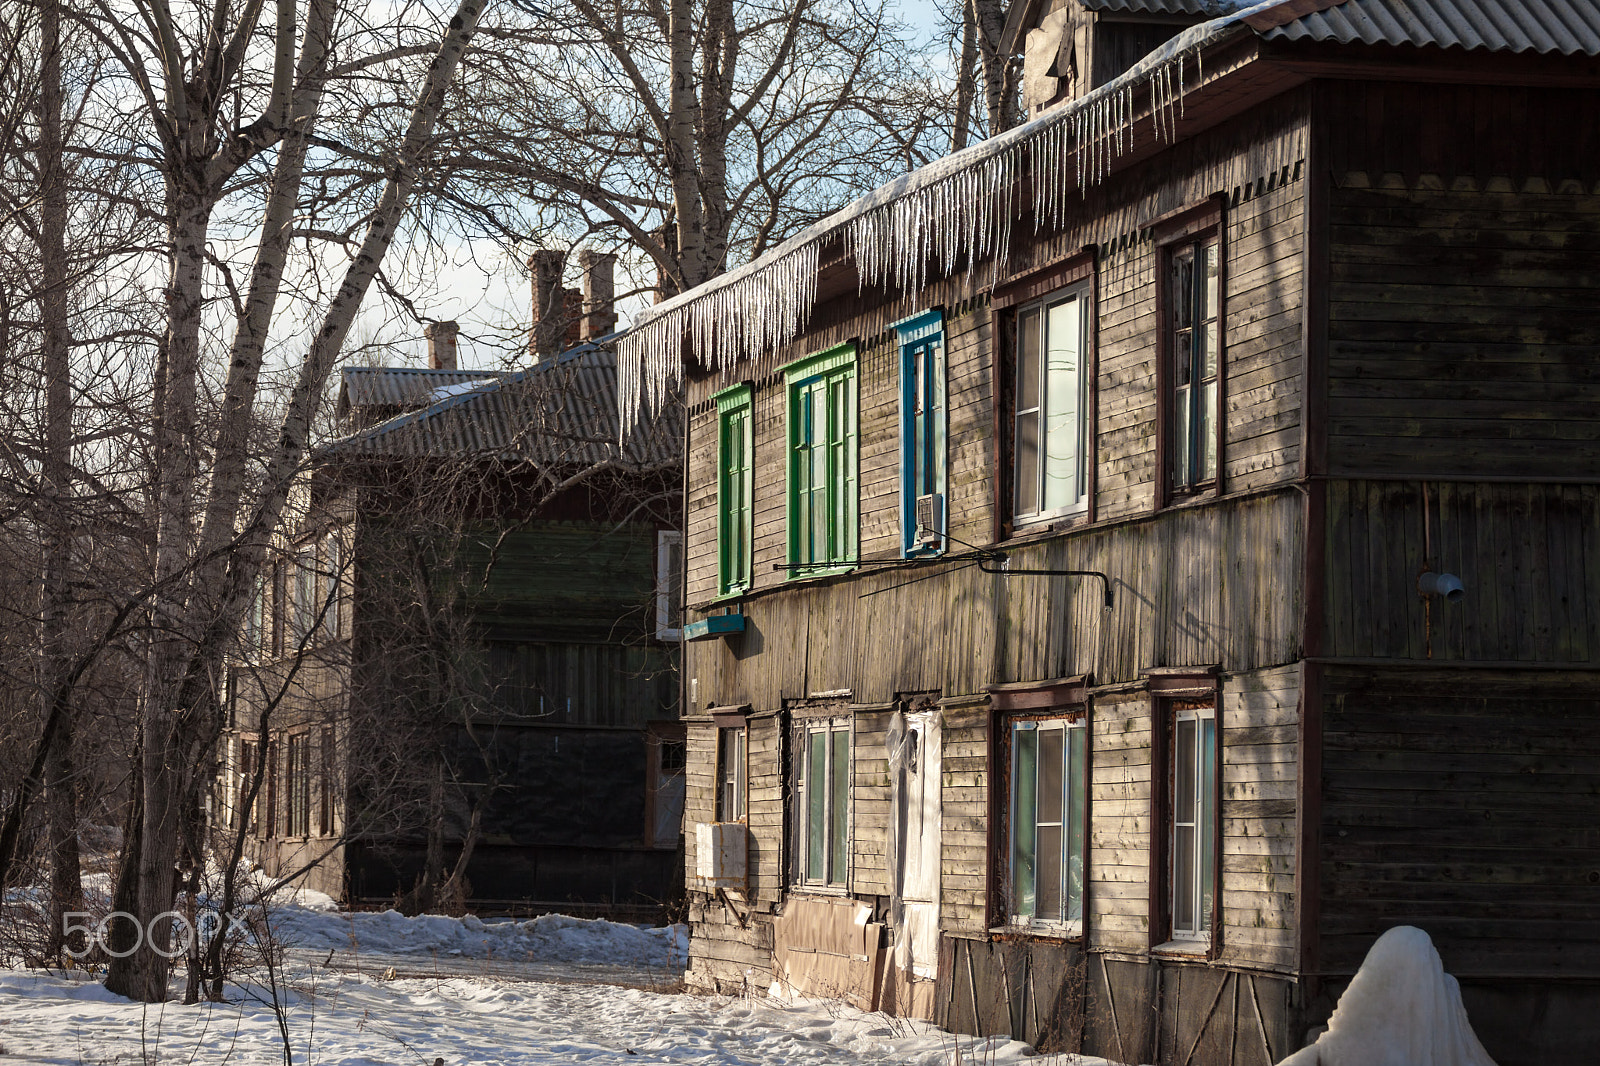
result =
[[[1600,195],[1352,182],[1330,195],[1328,469],[1600,469]]]

